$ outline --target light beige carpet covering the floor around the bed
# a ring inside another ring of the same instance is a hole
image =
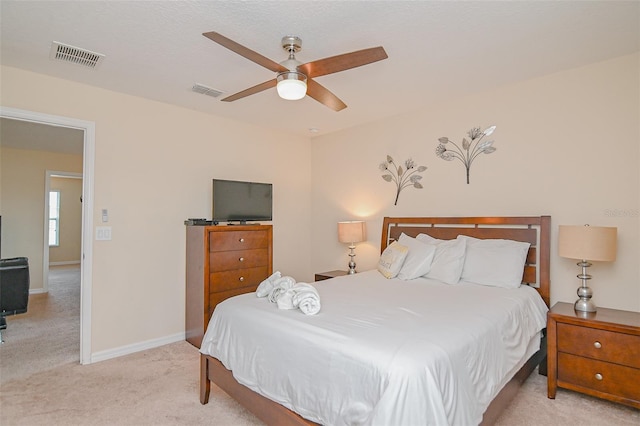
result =
[[[43,309],[63,315],[52,295]],[[31,302],[30,302],[31,303]],[[78,299],[79,303],[79,299]],[[34,303],[30,310],[40,309]],[[36,316],[37,312],[30,315]],[[22,340],[14,327],[7,341]],[[77,321],[77,318],[73,321]],[[34,325],[35,326],[35,325]],[[45,327],[45,324],[42,324]],[[65,328],[66,329],[66,328]],[[55,333],[57,333],[56,331]],[[55,334],[54,333],[54,334]],[[77,334],[73,332],[71,334]],[[59,336],[54,336],[59,340]],[[75,337],[78,338],[78,337]],[[4,345],[3,345],[4,346]],[[0,348],[3,379],[0,388],[0,424],[11,425],[220,425],[262,424],[216,386],[210,402],[199,402],[199,353],[186,342],[178,342],[132,355],[81,366],[79,346],[73,359],[39,350],[30,361],[4,357]],[[26,352],[23,352],[26,357]],[[37,367],[26,367],[37,360]],[[14,371],[15,372],[12,372]],[[10,377],[4,377],[4,374]],[[6,380],[5,380],[6,379]],[[640,410],[609,403],[575,392],[558,390],[547,398],[546,378],[533,373],[497,422],[499,426],[537,425],[638,425]],[[466,425],[463,425],[466,426]]]

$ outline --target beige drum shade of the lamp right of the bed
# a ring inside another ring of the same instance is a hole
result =
[[[613,262],[618,228],[560,225],[558,254],[569,259]]]

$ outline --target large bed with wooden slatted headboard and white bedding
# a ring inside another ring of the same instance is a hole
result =
[[[545,371],[550,217],[387,217],[381,253],[420,234],[452,244],[461,235],[474,244],[524,242],[523,285],[387,280],[367,271],[315,283],[316,316],[237,296],[216,307],[203,340],[201,403],[213,382],[267,424],[495,422],[535,367]],[[505,306],[506,319],[487,295]]]

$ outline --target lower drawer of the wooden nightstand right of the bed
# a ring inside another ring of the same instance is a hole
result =
[[[640,369],[558,354],[558,382],[640,402]]]

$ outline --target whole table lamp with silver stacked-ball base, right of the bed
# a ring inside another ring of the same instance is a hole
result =
[[[593,291],[587,286],[591,275],[587,268],[589,261],[613,262],[616,260],[617,228],[604,226],[572,226],[560,225],[558,232],[558,254],[569,259],[578,259],[582,273],[578,278],[582,286],[578,287],[579,299],[574,309],[579,312],[595,312],[596,305],[591,300]]]

